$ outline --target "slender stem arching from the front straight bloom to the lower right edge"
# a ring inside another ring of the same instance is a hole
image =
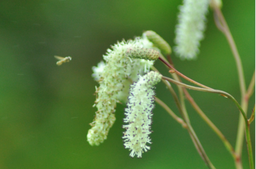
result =
[[[213,90],[213,89],[207,89],[207,88],[201,88],[201,87],[194,87],[194,86],[190,86],[190,85],[186,85],[183,83],[180,83],[178,81],[174,81],[171,78],[168,77],[162,77],[162,79],[165,79],[166,81],[169,81],[171,83],[186,87],[186,88],[190,88],[192,90],[197,90],[197,91],[203,91],[203,92],[210,92],[210,93],[217,93],[217,94],[221,94],[221,95],[225,95],[227,98],[231,99],[235,104],[236,107],[240,110],[243,118],[244,118],[244,122],[245,122],[245,134],[246,134],[246,141],[247,141],[247,149],[248,149],[248,154],[249,154],[249,162],[250,162],[250,167],[254,168],[254,164],[253,164],[253,154],[252,154],[252,143],[251,143],[251,136],[250,136],[250,124],[249,121],[247,120],[246,114],[244,112],[244,110],[242,109],[242,107],[239,105],[239,103],[236,101],[236,99],[230,95],[227,92],[223,92],[220,90]]]

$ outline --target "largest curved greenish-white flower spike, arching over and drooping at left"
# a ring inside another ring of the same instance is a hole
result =
[[[93,67],[92,76],[100,86],[96,87],[97,98],[94,104],[98,111],[87,134],[87,141],[92,146],[98,146],[107,139],[109,129],[115,122],[116,103],[127,100],[130,84],[137,80],[139,75],[147,73],[154,63],[126,57],[126,49],[134,46],[158,50],[146,36],[137,37],[133,41],[122,41],[111,46],[112,49],[108,49],[107,54],[103,55],[105,62],[102,61],[98,67]]]

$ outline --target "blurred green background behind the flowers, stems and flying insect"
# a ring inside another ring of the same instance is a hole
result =
[[[142,159],[129,157],[122,129],[125,105],[118,104],[116,123],[99,147],[86,141],[95,108],[92,66],[117,41],[154,30],[174,45],[179,0],[173,1],[6,1],[0,2],[0,168],[206,168],[189,134],[156,105],[151,150]],[[223,1],[248,85],[255,68],[255,1]],[[226,91],[240,101],[237,70],[225,37],[207,15],[207,30],[196,61],[175,67],[196,81]],[[58,67],[54,55],[71,56]],[[174,54],[173,54],[174,56]],[[159,61],[156,67],[168,75]],[[175,88],[177,89],[177,88]],[[158,98],[175,112],[163,84]],[[190,91],[207,116],[235,146],[238,110],[217,94]],[[249,114],[255,102],[249,102]],[[191,124],[212,163],[234,168],[220,139],[187,103]],[[178,114],[179,115],[179,114]],[[255,149],[255,121],[251,125]],[[254,151],[255,157],[255,151]],[[254,162],[255,164],[255,162]],[[249,168],[247,149],[243,165]]]

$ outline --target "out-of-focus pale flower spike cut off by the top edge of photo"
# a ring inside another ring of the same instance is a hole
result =
[[[178,15],[174,51],[183,59],[196,59],[204,35],[210,0],[183,0]]]

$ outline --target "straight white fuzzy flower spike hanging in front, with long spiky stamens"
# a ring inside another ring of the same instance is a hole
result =
[[[151,133],[152,110],[155,107],[153,87],[161,81],[161,78],[161,74],[150,71],[131,86],[124,119],[124,122],[129,124],[123,126],[126,129],[123,136],[124,146],[131,150],[131,157],[137,155],[141,158],[142,152],[150,149],[146,143],[151,143],[149,134]]]

